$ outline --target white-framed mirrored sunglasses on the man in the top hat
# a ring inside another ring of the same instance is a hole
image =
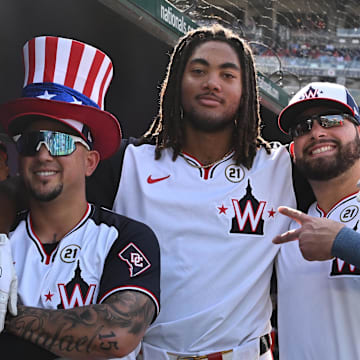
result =
[[[81,143],[90,150],[82,138],[57,131],[31,131],[13,137],[18,152],[23,156],[34,156],[41,145],[45,145],[51,156],[66,156],[76,149],[76,143]]]

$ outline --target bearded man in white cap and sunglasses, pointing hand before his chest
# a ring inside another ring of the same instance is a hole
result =
[[[359,125],[349,91],[325,82],[305,86],[279,115],[293,139],[295,165],[316,197],[308,215],[279,209],[293,219],[292,230],[274,239],[283,243],[277,259],[283,359],[360,359]],[[308,261],[314,254],[323,261]]]

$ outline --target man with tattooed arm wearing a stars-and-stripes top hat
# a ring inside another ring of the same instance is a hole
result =
[[[29,198],[10,240],[1,234],[3,317],[10,299],[1,348],[12,358],[31,349],[37,359],[135,359],[159,312],[158,242],[144,224],[85,195],[85,178],[120,145],[119,123],[103,110],[112,63],[90,45],[51,36],[27,42],[24,63],[23,96],[0,106]],[[16,346],[24,340],[37,350]]]

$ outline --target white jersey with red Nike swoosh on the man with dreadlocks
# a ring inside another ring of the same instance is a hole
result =
[[[270,332],[271,240],[289,226],[277,207],[296,203],[282,147],[259,150],[251,170],[231,155],[207,170],[184,156],[174,162],[165,150],[155,161],[154,146],[129,145],[114,210],[148,224],[160,243],[162,311],[144,343],[203,354]]]

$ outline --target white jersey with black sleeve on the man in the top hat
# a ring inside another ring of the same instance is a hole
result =
[[[68,309],[134,290],[148,295],[159,311],[159,246],[144,224],[88,205],[79,224],[55,246],[41,243],[27,212],[10,239],[18,301],[26,306]]]

